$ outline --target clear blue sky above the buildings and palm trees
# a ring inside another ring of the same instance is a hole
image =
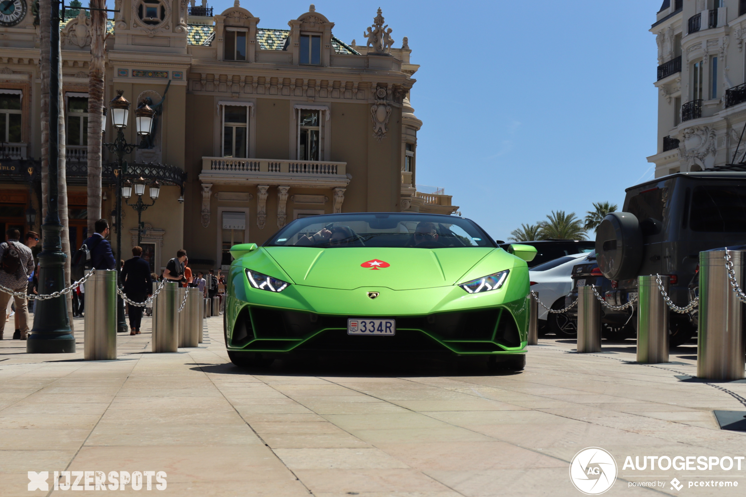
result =
[[[209,0],[208,0],[209,1]],[[201,0],[197,0],[199,5]],[[308,1],[248,2],[287,28]],[[208,3],[215,13],[233,0]],[[333,34],[363,42],[377,7],[420,64],[418,183],[445,187],[495,238],[551,210],[584,215],[653,177],[659,0],[318,1]]]

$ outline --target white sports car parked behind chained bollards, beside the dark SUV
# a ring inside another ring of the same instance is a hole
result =
[[[565,295],[572,289],[572,268],[586,256],[587,253],[574,253],[530,268],[528,277],[531,280],[531,291],[538,293],[539,300],[547,306],[553,309],[564,308]],[[539,306],[539,333],[574,337],[577,330],[574,321],[568,320],[565,314],[550,314],[547,309]]]

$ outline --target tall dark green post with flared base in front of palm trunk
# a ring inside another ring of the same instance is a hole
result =
[[[42,28],[44,29],[44,28]],[[65,259],[62,251],[62,224],[57,205],[57,181],[60,155],[60,2],[51,1],[49,42],[49,161],[48,206],[42,232],[43,250],[39,254],[40,294],[52,294],[65,288]],[[75,336],[70,329],[67,297],[40,300],[34,308],[34,328],[26,341],[26,352],[54,354],[75,352]]]

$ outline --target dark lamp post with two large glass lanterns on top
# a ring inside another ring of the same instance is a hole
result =
[[[116,268],[119,275],[120,288],[122,287],[121,271],[119,261],[122,260],[122,194],[125,187],[122,186],[122,180],[127,173],[127,162],[125,155],[132,153],[137,144],[128,143],[125,139],[124,130],[127,127],[127,121],[130,112],[130,102],[122,96],[124,91],[116,90],[116,97],[109,103],[111,110],[111,124],[116,127],[116,140],[113,143],[104,143],[111,153],[116,154],[116,168],[114,176],[116,177]],[[151,130],[153,110],[147,105],[141,105],[135,111],[135,121],[137,124],[137,134],[148,136]],[[120,333],[127,332],[127,322],[125,320],[125,302],[122,297],[117,297],[117,331]]]

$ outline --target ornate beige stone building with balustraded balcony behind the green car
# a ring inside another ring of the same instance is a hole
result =
[[[41,212],[39,28],[25,2],[17,19],[0,25],[0,224],[19,227],[29,226],[30,209]],[[128,157],[131,169],[177,168],[142,213],[142,246],[154,270],[181,247],[195,268],[220,268],[230,264],[231,244],[263,243],[307,215],[457,211],[442,192],[416,191],[422,122],[410,95],[419,66],[406,37],[394,43],[380,9],[360,27],[366,43],[356,45],[336,39],[334,23],[313,5],[286,29],[263,28],[237,0],[214,16],[210,7],[174,0],[120,0],[116,8],[105,98],[123,90],[133,110],[147,98],[158,110],[151,139]],[[86,224],[90,20],[68,11],[60,28],[75,247]],[[133,113],[130,121],[125,136],[135,142]],[[112,180],[104,174],[107,217]],[[137,212],[124,206],[123,213],[128,254]],[[41,221],[37,215],[31,226]]]

